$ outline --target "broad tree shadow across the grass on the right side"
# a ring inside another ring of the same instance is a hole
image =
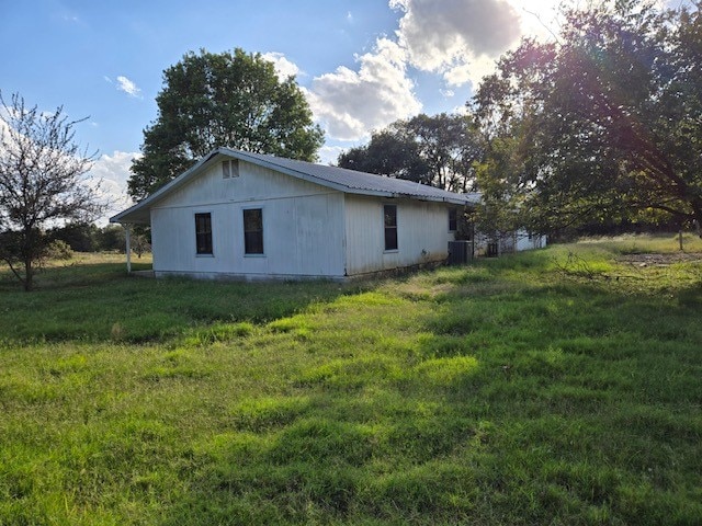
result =
[[[408,340],[383,315],[366,347],[234,409],[163,524],[695,524],[699,286],[509,285],[488,266],[398,282],[408,315],[430,304]]]

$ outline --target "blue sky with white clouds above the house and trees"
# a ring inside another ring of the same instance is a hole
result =
[[[0,0],[0,91],[87,117],[76,139],[97,153],[90,174],[110,216],[131,204],[129,165],[157,118],[162,72],[190,50],[239,47],[295,75],[326,134],[319,160],[335,163],[399,118],[462,111],[500,55],[557,31],[558,3]]]

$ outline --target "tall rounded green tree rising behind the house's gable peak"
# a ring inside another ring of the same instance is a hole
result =
[[[279,80],[260,54],[188,53],[163,72],[158,117],[144,130],[129,194],[144,198],[224,146],[314,161],[324,133],[294,77]]]

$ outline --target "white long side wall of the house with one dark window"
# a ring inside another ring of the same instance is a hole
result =
[[[383,206],[397,206],[397,250],[385,250]],[[359,275],[445,261],[449,205],[346,195],[347,274]]]

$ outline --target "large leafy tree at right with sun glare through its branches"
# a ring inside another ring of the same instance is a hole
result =
[[[491,176],[522,197],[533,225],[646,210],[702,221],[699,7],[569,11],[556,43],[523,42],[483,81],[472,110],[488,144],[512,141],[513,171]]]

